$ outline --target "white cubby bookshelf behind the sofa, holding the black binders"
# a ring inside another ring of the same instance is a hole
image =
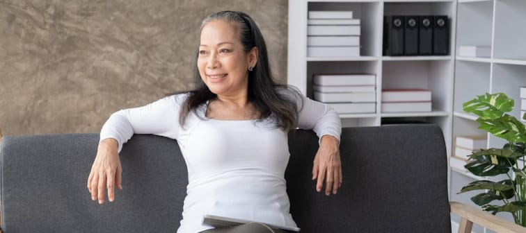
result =
[[[351,10],[360,19],[360,56],[356,58],[308,57],[307,15],[309,10]],[[449,54],[431,56],[383,56],[384,15],[447,15]],[[376,113],[340,114],[344,126],[380,126],[397,118],[437,123],[450,148],[452,86],[454,72],[454,0],[291,0],[289,1],[289,85],[310,98],[313,74],[376,74]],[[432,112],[381,112],[382,88],[424,88],[432,92]]]

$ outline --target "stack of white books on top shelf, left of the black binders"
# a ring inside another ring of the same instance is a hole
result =
[[[308,57],[360,56],[360,19],[352,11],[308,12]]]

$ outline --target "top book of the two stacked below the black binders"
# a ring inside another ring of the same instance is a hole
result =
[[[382,89],[382,102],[431,101],[429,89]]]

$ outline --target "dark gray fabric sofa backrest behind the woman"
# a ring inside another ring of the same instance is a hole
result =
[[[1,144],[3,232],[175,232],[186,193],[177,142],[135,135],[123,148],[115,202],[90,199],[86,179],[99,137],[4,137]],[[344,128],[344,183],[336,196],[310,180],[317,137],[289,137],[287,191],[301,232],[451,232],[447,156],[433,125]]]

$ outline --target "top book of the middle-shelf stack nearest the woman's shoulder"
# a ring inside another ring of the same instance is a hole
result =
[[[376,85],[376,74],[314,74],[314,85]]]

